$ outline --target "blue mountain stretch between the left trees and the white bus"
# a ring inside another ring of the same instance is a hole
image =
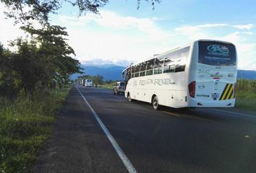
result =
[[[125,67],[117,66],[115,64],[82,64],[82,68],[85,70],[85,74],[96,76],[101,75],[104,77],[104,80],[112,80],[119,81],[123,80],[121,78],[121,71],[124,70]],[[81,74],[73,74],[71,79],[77,79]]]

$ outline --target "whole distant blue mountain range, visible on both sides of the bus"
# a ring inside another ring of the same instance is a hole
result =
[[[82,68],[85,69],[85,74],[88,75],[101,75],[104,80],[123,80],[121,78],[121,71],[124,70],[124,66],[117,66],[115,64],[82,64]],[[77,79],[80,74],[73,74],[71,79]],[[256,71],[238,70],[237,79],[256,79]]]

